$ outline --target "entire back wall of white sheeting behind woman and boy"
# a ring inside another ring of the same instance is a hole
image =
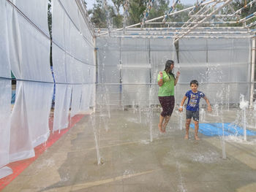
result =
[[[240,93],[249,97],[251,39],[180,39],[175,47],[168,38],[99,37],[97,48],[97,80],[106,83],[98,86],[98,95],[108,86],[111,98],[118,95],[112,104],[146,105],[148,98],[158,104],[157,74],[167,59],[175,61],[175,74],[181,72],[177,103],[194,79],[211,103],[237,103]],[[121,85],[108,85],[118,82]],[[105,102],[100,96],[97,100]]]

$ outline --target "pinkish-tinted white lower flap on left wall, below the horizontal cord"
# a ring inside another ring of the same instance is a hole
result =
[[[24,92],[24,82],[18,81],[11,115],[10,162],[34,157]]]

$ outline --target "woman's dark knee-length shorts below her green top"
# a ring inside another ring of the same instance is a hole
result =
[[[175,103],[174,96],[159,96],[158,99],[162,106],[162,117],[172,115]]]

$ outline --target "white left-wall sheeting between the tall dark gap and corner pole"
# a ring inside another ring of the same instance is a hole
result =
[[[75,1],[53,0],[52,4],[54,77],[57,83],[70,84],[56,84],[53,131],[60,131],[67,128],[68,118],[91,106],[90,94],[94,92],[91,85],[83,84],[95,82],[94,45]]]

